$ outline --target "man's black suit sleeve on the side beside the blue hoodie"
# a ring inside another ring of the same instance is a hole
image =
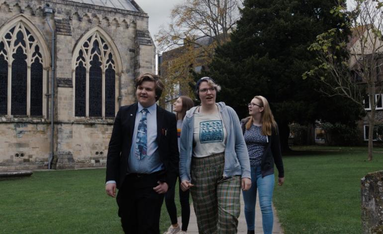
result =
[[[168,116],[169,121],[169,164],[167,172],[168,185],[176,184],[180,154],[178,151],[177,120],[174,114]]]

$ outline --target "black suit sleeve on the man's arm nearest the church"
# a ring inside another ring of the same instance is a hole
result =
[[[106,181],[118,181],[121,153],[121,108],[114,119],[112,135],[110,137],[108,154],[106,157]]]

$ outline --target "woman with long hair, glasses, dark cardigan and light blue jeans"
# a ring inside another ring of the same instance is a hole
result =
[[[250,117],[241,121],[251,166],[251,188],[243,191],[247,233],[254,234],[258,190],[263,232],[272,234],[274,164],[279,172],[278,184],[282,186],[285,181],[278,126],[266,98],[255,96],[248,108]]]

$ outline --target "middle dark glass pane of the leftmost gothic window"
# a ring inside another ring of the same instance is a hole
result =
[[[19,33],[17,33],[17,35],[19,35]],[[19,39],[19,37],[17,39]],[[27,56],[24,54],[22,47],[18,47],[16,53],[12,56],[14,60],[12,62],[10,113],[11,115],[21,116],[26,115],[27,66],[25,59]]]

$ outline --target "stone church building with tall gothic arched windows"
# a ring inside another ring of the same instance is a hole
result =
[[[0,171],[105,166],[146,72],[155,46],[134,0],[0,0]]]

